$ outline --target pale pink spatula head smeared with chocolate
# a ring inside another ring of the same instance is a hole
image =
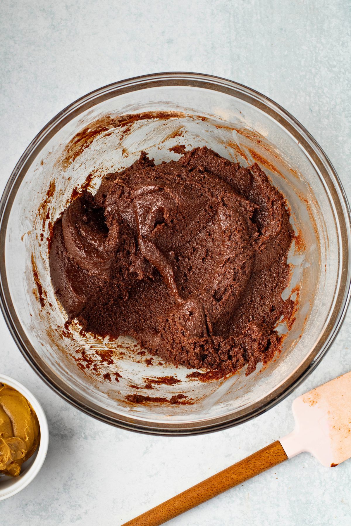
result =
[[[351,457],[351,372],[296,398],[293,412],[294,454],[309,451],[332,467]]]

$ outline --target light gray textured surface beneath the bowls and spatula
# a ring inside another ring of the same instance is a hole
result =
[[[237,80],[317,139],[351,199],[348,0],[31,0],[0,5],[0,191],[29,141],[64,106],[115,80],[169,70]],[[351,369],[349,311],[317,370],[254,421],[200,437],[148,437],[97,422],[39,380],[0,319],[0,369],[42,402],[42,471],[0,503],[0,523],[121,524],[293,426],[295,396]],[[300,455],[174,519],[174,526],[349,524],[351,461]],[[10,518],[9,518],[10,517]]]

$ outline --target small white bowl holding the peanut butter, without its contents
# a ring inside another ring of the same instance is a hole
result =
[[[23,490],[29,484],[29,482],[32,482],[34,477],[40,471],[46,457],[49,443],[49,430],[47,427],[46,416],[41,404],[39,404],[38,400],[32,395],[30,391],[28,391],[26,387],[22,385],[22,383],[19,383],[17,380],[5,375],[0,375],[0,382],[6,383],[6,385],[9,387],[13,387],[26,397],[36,412],[40,427],[39,447],[33,453],[32,457],[24,462],[19,476],[0,476],[0,500],[4,500]]]

